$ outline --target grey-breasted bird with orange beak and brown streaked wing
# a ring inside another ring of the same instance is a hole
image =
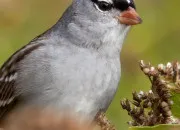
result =
[[[141,23],[133,0],[73,0],[52,27],[2,65],[0,120],[25,106],[91,120],[106,112],[120,81],[124,39]]]

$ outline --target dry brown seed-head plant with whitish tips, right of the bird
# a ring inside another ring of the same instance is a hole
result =
[[[123,109],[132,117],[131,126],[154,126],[177,124],[172,116],[171,92],[180,92],[180,64],[178,62],[159,64],[158,67],[140,61],[140,68],[152,84],[149,92],[133,92],[133,101],[121,101]]]

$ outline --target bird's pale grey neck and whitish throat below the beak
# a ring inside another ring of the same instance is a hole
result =
[[[114,57],[120,55],[121,48],[129,29],[121,32],[121,29],[109,28],[104,32],[94,31],[93,27],[82,28],[69,24],[69,29],[66,33],[67,40],[78,47],[93,49],[102,55]]]

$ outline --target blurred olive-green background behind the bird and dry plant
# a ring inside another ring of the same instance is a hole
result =
[[[51,27],[70,0],[0,0],[0,65],[17,49]],[[124,44],[120,87],[107,116],[119,130],[127,130],[130,118],[120,99],[133,90],[148,90],[150,83],[138,66],[180,60],[179,0],[136,0],[143,24],[132,28]]]

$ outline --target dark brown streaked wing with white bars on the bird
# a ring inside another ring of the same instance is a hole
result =
[[[15,94],[15,84],[18,78],[17,63],[29,53],[43,44],[31,43],[14,53],[0,69],[0,119],[12,108],[18,95]]]

